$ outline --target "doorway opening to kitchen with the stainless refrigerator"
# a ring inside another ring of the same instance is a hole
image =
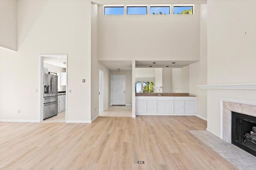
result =
[[[40,55],[40,122],[67,120],[67,63],[66,54]]]

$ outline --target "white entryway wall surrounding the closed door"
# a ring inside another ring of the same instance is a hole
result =
[[[111,70],[110,71],[110,82],[111,75],[126,75],[126,105],[132,105],[132,70]],[[134,83],[135,87],[135,83]],[[111,94],[111,85],[110,85],[110,94]],[[111,101],[111,95],[110,95]]]

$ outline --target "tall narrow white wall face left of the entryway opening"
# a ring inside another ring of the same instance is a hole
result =
[[[98,6],[91,5],[91,119],[99,114]]]

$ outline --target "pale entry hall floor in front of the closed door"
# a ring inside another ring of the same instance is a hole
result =
[[[100,112],[101,117],[132,117],[132,106],[109,106],[104,112]]]

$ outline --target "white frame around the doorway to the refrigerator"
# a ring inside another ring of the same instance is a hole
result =
[[[39,111],[39,122],[42,122],[44,120],[44,107],[43,107],[43,103],[44,103],[44,57],[66,57],[66,73],[68,73],[68,54],[40,54],[39,55],[39,77],[40,77],[40,89],[39,89],[39,93],[40,93],[40,111]],[[66,74],[66,114],[65,114],[65,123],[67,123],[67,115],[68,115],[68,74]]]

